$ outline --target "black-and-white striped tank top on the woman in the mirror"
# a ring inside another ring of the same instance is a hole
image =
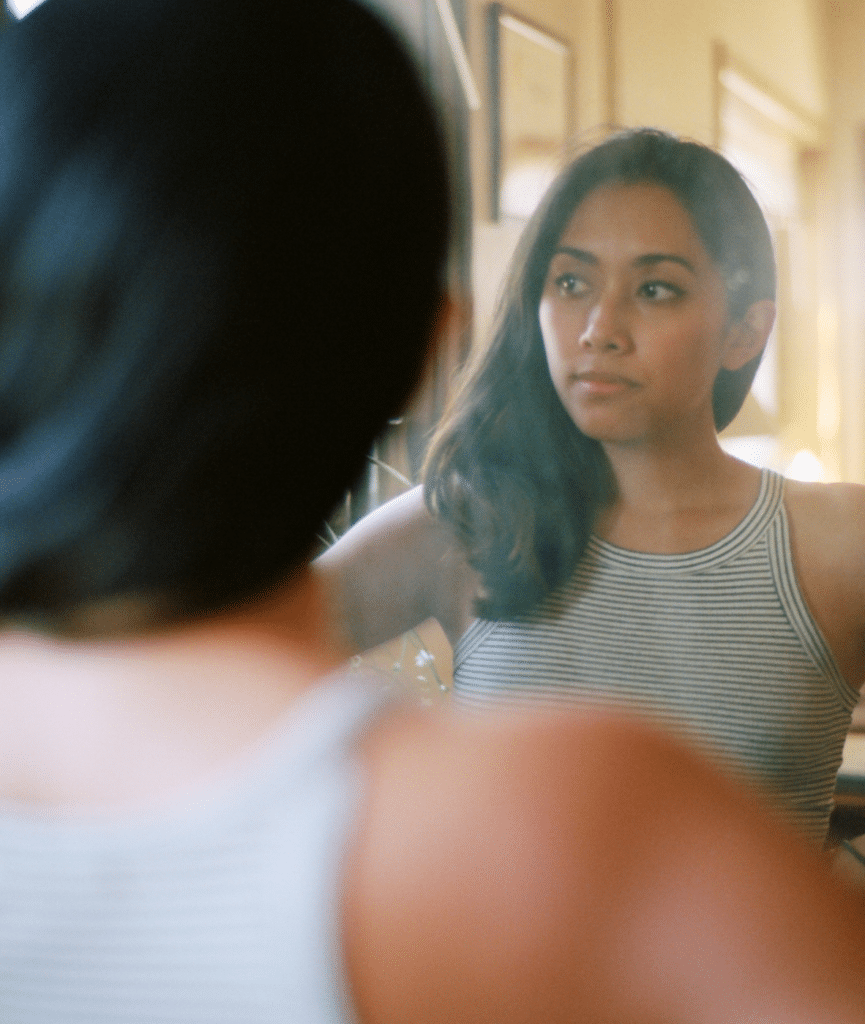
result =
[[[783,477],[699,551],[593,537],[530,613],[476,620],[453,652],[464,708],[619,709],[656,720],[823,841],[857,692],[798,589]]]

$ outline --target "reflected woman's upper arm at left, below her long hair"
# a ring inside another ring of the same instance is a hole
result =
[[[449,535],[421,487],[352,526],[313,563],[342,642],[369,650],[439,617],[450,554]]]

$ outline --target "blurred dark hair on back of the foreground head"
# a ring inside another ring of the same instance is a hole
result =
[[[48,0],[0,42],[0,613],[262,593],[418,380],[448,186],[347,0]]]

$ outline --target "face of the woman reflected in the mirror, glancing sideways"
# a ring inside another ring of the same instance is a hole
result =
[[[712,430],[731,355],[727,295],[691,218],[661,185],[596,188],[550,261],[538,310],[550,375],[602,442],[675,442]]]

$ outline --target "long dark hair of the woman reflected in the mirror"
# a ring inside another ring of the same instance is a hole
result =
[[[564,582],[613,481],[601,445],[565,412],[550,378],[538,305],[550,260],[574,210],[600,185],[662,185],[690,215],[727,285],[730,316],[775,297],[763,213],[738,171],[697,142],[641,128],[575,159],[529,221],[511,264],[492,340],[470,364],[424,468],[427,504],[449,522],[480,575],[476,612],[513,617]],[[760,356],[721,370],[719,430],[738,413]]]

